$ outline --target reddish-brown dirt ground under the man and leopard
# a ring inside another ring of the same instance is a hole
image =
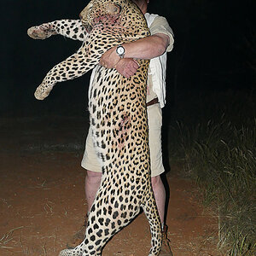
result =
[[[44,124],[42,119],[0,120],[1,256],[58,255],[83,224],[84,123],[84,119],[64,124],[60,119],[44,119]],[[195,183],[174,173],[166,175],[170,189],[166,224],[173,255],[219,255],[218,218],[204,211]],[[102,256],[145,256],[149,248],[148,222],[140,214],[108,242]]]

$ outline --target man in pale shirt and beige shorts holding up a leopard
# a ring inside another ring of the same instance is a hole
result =
[[[134,3],[142,10],[148,22],[151,36],[142,38],[136,42],[122,44],[121,48],[113,47],[109,49],[100,61],[100,65],[107,68],[115,68],[120,74],[129,78],[137,72],[138,64],[135,59],[150,59],[148,69],[148,91],[147,91],[147,110],[148,110],[148,136],[151,160],[151,181],[154,190],[154,197],[160,213],[160,219],[163,227],[163,247],[160,256],[172,255],[169,240],[166,236],[165,206],[166,191],[161,181],[160,174],[165,172],[162,163],[161,153],[161,125],[162,114],[161,108],[166,102],[166,51],[172,50],[173,34],[165,18],[158,15],[149,15],[147,13],[149,0],[133,0]],[[120,50],[120,52],[119,52]],[[90,86],[93,84],[94,73],[91,75]],[[101,183],[102,168],[96,156],[96,150],[92,143],[91,131],[89,130],[86,139],[84,157],[81,164],[87,171],[85,177],[85,196],[87,199],[88,209],[95,199],[96,192]],[[79,230],[68,247],[75,247],[84,238],[84,227]],[[79,238],[79,239],[78,239]]]

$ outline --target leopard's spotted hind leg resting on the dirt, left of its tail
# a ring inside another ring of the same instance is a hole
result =
[[[140,204],[129,207],[120,207],[116,193],[118,187],[108,188],[108,180],[103,181],[97,192],[96,199],[90,208],[88,226],[85,231],[85,239],[72,250],[62,250],[59,256],[98,256],[102,248],[116,233],[124,228],[140,212]]]

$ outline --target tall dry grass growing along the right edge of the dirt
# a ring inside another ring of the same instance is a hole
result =
[[[218,247],[256,254],[256,105],[250,92],[177,97],[172,159],[183,162],[218,214]],[[206,107],[203,107],[206,106]]]

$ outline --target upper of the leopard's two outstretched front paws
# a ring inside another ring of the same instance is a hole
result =
[[[44,23],[40,26],[32,26],[27,30],[29,37],[33,39],[45,39],[49,38],[51,35],[55,35],[56,32],[53,31],[52,26],[49,23]]]

